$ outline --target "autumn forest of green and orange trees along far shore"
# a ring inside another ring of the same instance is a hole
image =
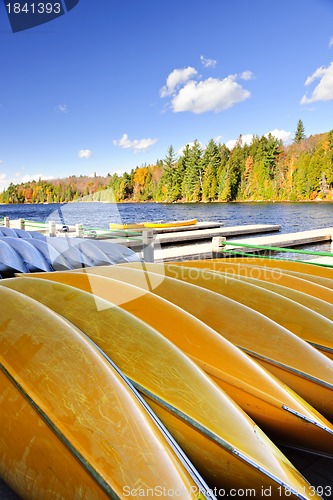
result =
[[[239,137],[233,149],[211,140],[187,145],[180,157],[172,146],[154,165],[123,175],[71,176],[11,184],[2,203],[70,201],[307,201],[333,200],[333,130],[284,146],[272,135]]]

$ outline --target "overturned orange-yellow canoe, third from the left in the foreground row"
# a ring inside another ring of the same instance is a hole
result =
[[[43,278],[89,291],[131,312],[190,356],[271,437],[285,444],[333,453],[331,424],[252,358],[194,316],[150,292],[111,278],[84,273],[52,273]],[[45,282],[45,280],[43,280]],[[43,301],[50,285],[7,282]],[[57,294],[56,287],[51,288]],[[58,292],[59,293],[59,292]],[[297,416],[296,416],[297,413]],[[313,422],[312,425],[309,425]]]

